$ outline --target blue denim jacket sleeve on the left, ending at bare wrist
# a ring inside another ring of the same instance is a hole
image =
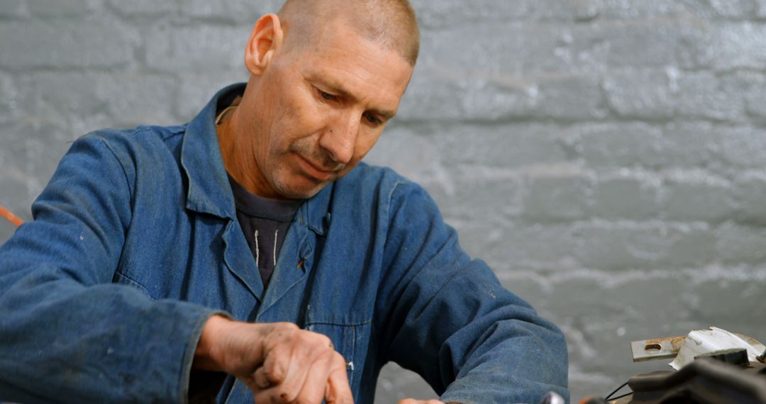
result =
[[[34,221],[0,246],[0,401],[186,400],[216,311],[111,283],[131,221],[127,178],[104,138],[80,138]]]

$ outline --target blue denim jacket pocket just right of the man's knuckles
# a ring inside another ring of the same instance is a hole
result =
[[[325,334],[332,340],[338,353],[345,360],[346,374],[349,376],[349,385],[352,387],[357,375],[362,374],[364,367],[365,350],[367,349],[371,321],[357,324],[332,324],[326,322],[312,322],[306,324],[306,330],[319,334]],[[355,362],[356,360],[356,362]]]

